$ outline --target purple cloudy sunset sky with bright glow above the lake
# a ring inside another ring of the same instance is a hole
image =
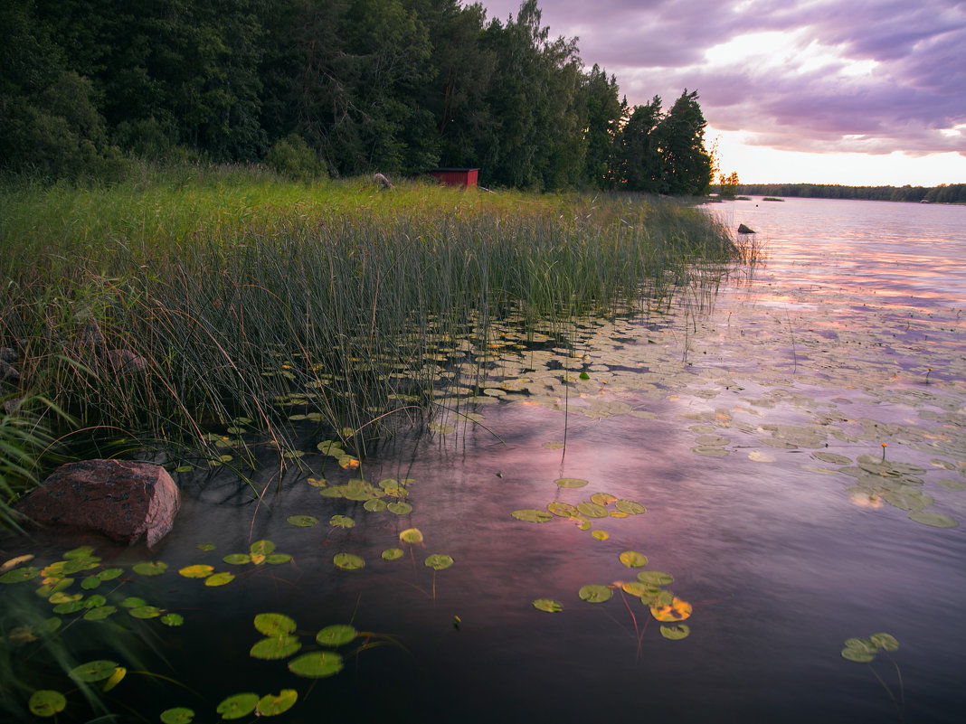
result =
[[[480,0],[489,18],[521,0]],[[465,0],[469,4],[469,0]],[[964,0],[540,0],[631,105],[697,91],[744,183],[966,183]]]

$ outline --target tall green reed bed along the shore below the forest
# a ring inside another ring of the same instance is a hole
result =
[[[576,316],[646,314],[756,254],[682,200],[393,181],[181,166],[0,185],[0,398],[57,440],[39,466],[242,472],[249,443],[298,459],[306,425],[361,458],[479,394],[488,350],[512,344],[492,320],[558,343]],[[32,484],[0,478],[7,517]]]

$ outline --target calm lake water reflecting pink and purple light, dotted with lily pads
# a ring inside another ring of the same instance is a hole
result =
[[[455,431],[364,460],[374,485],[412,481],[405,515],[320,495],[309,477],[333,487],[360,473],[315,454],[311,474],[256,480],[260,504],[227,475],[185,480],[156,551],[97,543],[110,565],[169,564],[131,576],[129,595],[184,615],[145,622],[163,654],[146,665],[196,692],[131,683],[117,696],[150,721],[175,706],[212,721],[229,694],[285,688],[298,703],[279,721],[292,722],[961,721],[966,208],[754,199],[711,212],[753,228],[766,261],[716,295],[695,287],[670,309],[580,320],[563,337],[529,342],[507,324],[474,352],[490,373],[472,420],[450,414]],[[615,499],[646,513],[611,515],[637,510]],[[591,528],[512,515],[554,501],[583,504]],[[399,542],[411,527],[423,543]],[[292,562],[222,562],[259,539]],[[403,558],[383,560],[397,546]],[[647,565],[623,565],[628,550]],[[339,552],[365,567],[336,569]],[[433,553],[454,564],[434,573]],[[175,572],[189,564],[237,578],[206,587]],[[687,638],[665,638],[620,587],[641,571],[673,577],[665,588],[692,606]],[[587,584],[611,599],[582,600]],[[294,619],[304,651],[331,624],[385,645],[351,655],[356,639],[337,676],[298,679],[284,660],[249,658],[264,612]],[[841,656],[879,632],[898,650]],[[106,657],[88,645],[80,661]]]

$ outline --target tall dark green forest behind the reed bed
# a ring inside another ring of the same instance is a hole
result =
[[[480,168],[487,185],[708,189],[696,93],[629,107],[537,0],[4,0],[0,168],[109,176],[124,159],[289,173]]]

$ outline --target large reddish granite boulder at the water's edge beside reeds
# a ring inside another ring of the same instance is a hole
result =
[[[163,467],[94,459],[61,465],[16,509],[43,525],[97,531],[115,541],[148,545],[174,524],[181,499]]]

